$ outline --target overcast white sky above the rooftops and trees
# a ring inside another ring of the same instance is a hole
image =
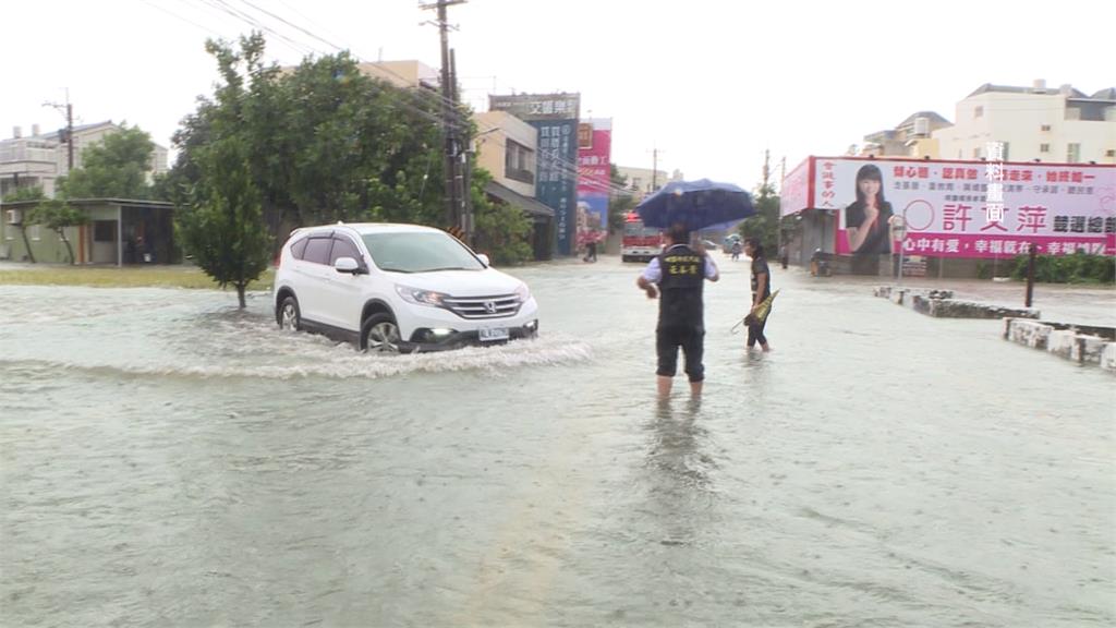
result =
[[[250,2],[250,3],[249,3]],[[268,34],[283,65],[330,48],[437,67],[434,17],[414,0],[38,0],[6,2],[0,136],[64,124],[44,102],[66,88],[80,122],[126,121],[171,148],[212,93],[208,37]],[[578,92],[581,117],[613,118],[613,161],[753,188],[764,149],[788,170],[841,154],[920,110],[954,120],[984,83],[1116,86],[1116,2],[469,0],[450,8],[465,98]],[[778,177],[778,172],[775,172]]]

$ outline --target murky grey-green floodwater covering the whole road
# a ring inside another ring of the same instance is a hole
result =
[[[0,625],[1116,622],[1110,373],[779,268],[749,355],[716,255],[700,403],[615,258],[513,273],[537,341],[394,358],[0,286]]]

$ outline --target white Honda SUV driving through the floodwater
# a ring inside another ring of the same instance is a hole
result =
[[[413,352],[538,333],[527,284],[489,266],[449,234],[416,225],[296,229],[279,255],[276,321]]]

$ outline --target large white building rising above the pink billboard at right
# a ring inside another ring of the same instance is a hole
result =
[[[985,84],[958,103],[953,126],[933,132],[940,159],[985,156],[1004,144],[1004,161],[1116,163],[1116,88],[1088,96],[1070,85]]]

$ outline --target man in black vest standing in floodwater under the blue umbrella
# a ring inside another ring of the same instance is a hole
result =
[[[701,394],[705,380],[702,353],[705,342],[702,287],[705,279],[720,278],[716,265],[703,249],[690,247],[690,231],[674,225],[666,231],[666,248],[652,259],[636,285],[647,293],[647,298],[658,299],[658,326],[655,327],[655,351],[658,354],[658,396],[671,394],[671,383],[679,365],[679,348],[685,354],[685,371],[690,378],[690,392]],[[655,286],[658,289],[655,289]]]

